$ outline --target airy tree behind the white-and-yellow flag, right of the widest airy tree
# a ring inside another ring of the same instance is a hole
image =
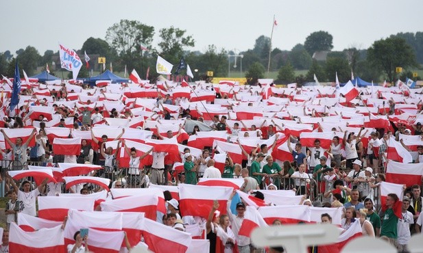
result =
[[[160,46],[162,57],[168,62],[179,62],[184,54],[184,49],[195,46],[193,37],[186,36],[185,33],[186,30],[181,30],[173,26],[160,29],[159,36],[162,41],[158,43],[158,46]]]

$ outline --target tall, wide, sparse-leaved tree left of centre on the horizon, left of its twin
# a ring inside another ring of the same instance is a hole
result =
[[[106,31],[106,40],[119,55],[141,53],[141,42],[149,45],[153,36],[154,27],[127,19],[114,23]]]

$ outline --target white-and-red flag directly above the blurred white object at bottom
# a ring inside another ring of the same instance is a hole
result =
[[[309,206],[305,205],[261,207],[258,212],[269,225],[275,219],[279,219],[282,224],[298,224],[299,222],[310,221]]]

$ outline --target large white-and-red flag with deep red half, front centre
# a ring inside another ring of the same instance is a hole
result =
[[[206,218],[213,207],[213,200],[219,202],[219,211],[226,213],[226,204],[232,191],[232,187],[181,184],[179,204],[182,215]]]

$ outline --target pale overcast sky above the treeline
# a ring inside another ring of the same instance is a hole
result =
[[[350,46],[367,49],[391,34],[423,31],[421,0],[2,0],[0,52],[34,46],[40,55],[58,51],[58,42],[81,49],[90,37],[102,38],[121,19],[137,20],[158,31],[173,25],[193,36],[204,52],[245,51],[258,36],[271,34],[273,16],[278,26],[272,47],[291,50],[313,31],[328,31],[333,50]],[[89,53],[89,52],[87,52]]]

